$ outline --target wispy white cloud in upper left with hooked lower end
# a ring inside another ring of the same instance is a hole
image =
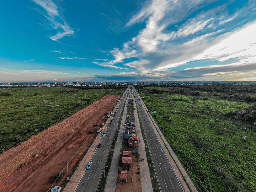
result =
[[[57,34],[50,36],[53,41],[73,35],[75,32],[70,28],[69,24],[60,16],[58,7],[52,0],[32,0],[41,6],[47,14],[43,14],[50,21],[50,25],[57,30]]]

